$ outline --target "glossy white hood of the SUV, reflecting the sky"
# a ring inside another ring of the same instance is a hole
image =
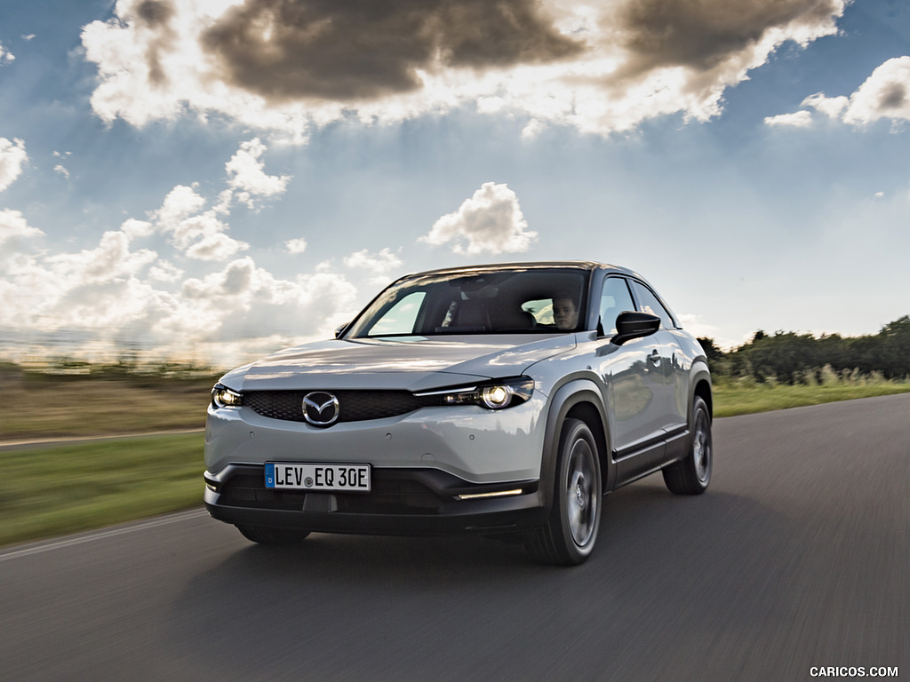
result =
[[[521,375],[575,346],[574,335],[407,336],[293,346],[222,377],[235,390],[401,388],[410,391]]]

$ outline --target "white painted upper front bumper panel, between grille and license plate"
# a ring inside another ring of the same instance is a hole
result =
[[[541,476],[547,403],[540,392],[519,406],[425,407],[401,416],[319,428],[261,416],[248,406],[208,407],[206,468],[330,462],[428,468],[476,484]]]

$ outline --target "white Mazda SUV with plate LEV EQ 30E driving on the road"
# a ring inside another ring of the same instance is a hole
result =
[[[258,543],[467,532],[580,564],[603,495],[657,471],[704,492],[711,421],[702,347],[632,271],[434,270],[220,379],[205,501]]]

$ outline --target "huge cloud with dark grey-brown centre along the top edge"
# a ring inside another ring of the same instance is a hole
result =
[[[719,114],[725,88],[780,45],[834,35],[847,2],[740,0],[731,13],[729,0],[463,0],[456,13],[441,0],[183,0],[153,13],[121,0],[82,40],[107,122],[219,115],[303,142],[313,125],[471,105],[609,134]],[[354,54],[364,44],[369,65]]]

